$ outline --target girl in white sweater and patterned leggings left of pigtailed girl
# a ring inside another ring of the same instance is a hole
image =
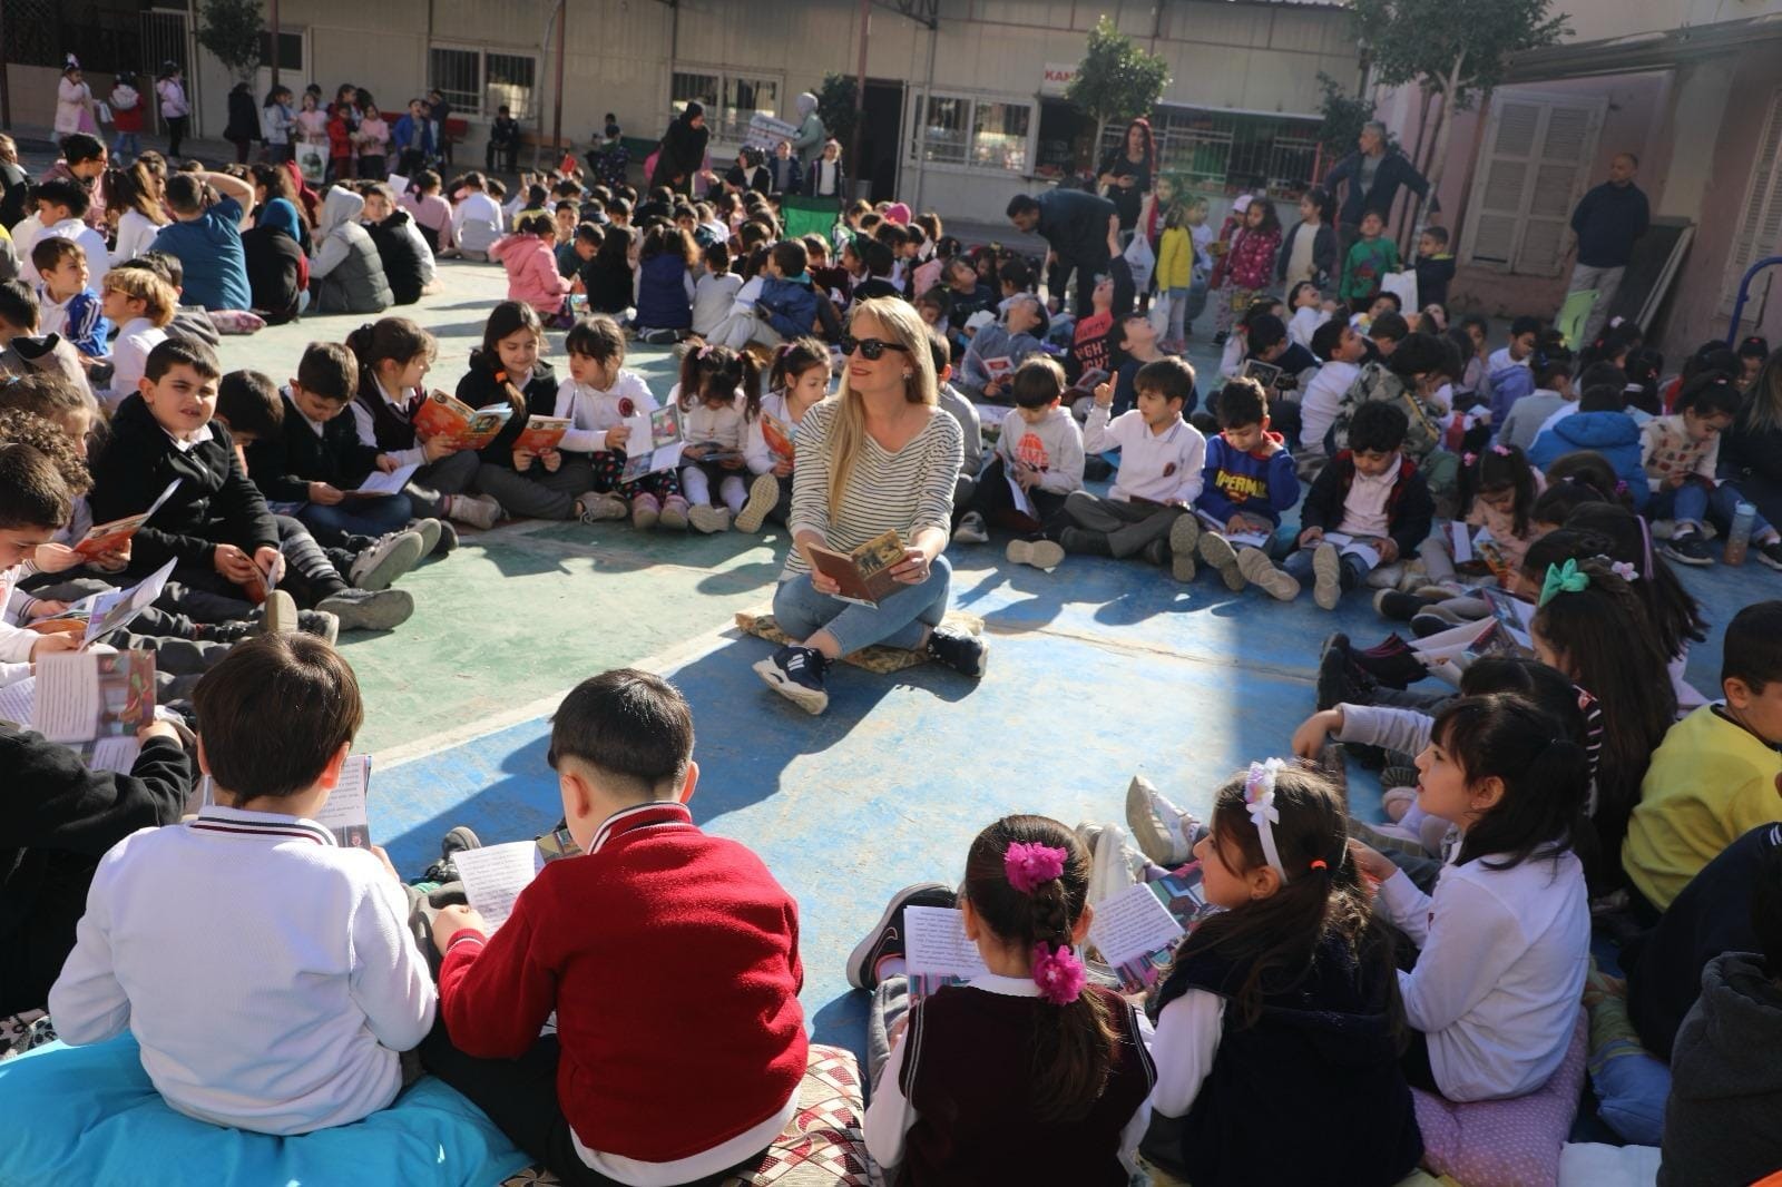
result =
[[[652,451],[650,415],[658,408],[643,376],[624,369],[625,332],[606,314],[595,314],[570,326],[563,348],[570,378],[558,389],[556,415],[570,430],[561,447],[588,454],[593,488],[604,492],[583,504],[583,522],[629,515],[638,531],[658,526],[686,531],[688,506],[675,467],[624,481],[629,458]]]

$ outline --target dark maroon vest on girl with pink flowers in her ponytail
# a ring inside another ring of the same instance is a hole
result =
[[[1157,1080],[1132,1007],[1092,987],[1114,1019],[1114,1068],[1089,1112],[1041,1121],[1034,1109],[1034,1027],[1057,1007],[948,986],[911,1012],[900,1087],[916,1110],[898,1187],[1071,1183],[1124,1187],[1121,1132]]]

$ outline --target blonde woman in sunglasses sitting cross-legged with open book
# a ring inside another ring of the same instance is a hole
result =
[[[798,642],[756,672],[809,713],[829,708],[829,667],[873,643],[984,675],[984,640],[941,626],[952,581],[941,551],[964,440],[937,406],[927,335],[900,298],[857,303],[841,339],[841,390],[798,422],[788,524],[795,547],[773,592],[773,620]],[[877,606],[843,601],[841,586],[811,563],[811,549],[852,553],[886,531],[903,542],[903,558],[891,565],[896,588]]]

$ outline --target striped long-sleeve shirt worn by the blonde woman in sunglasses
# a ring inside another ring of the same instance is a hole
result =
[[[841,396],[832,396],[804,413],[791,488],[793,535],[822,533],[827,547],[852,553],[877,535],[896,531],[911,540],[923,528],[948,529],[953,485],[964,460],[959,421],[934,408],[928,424],[896,453],[866,435],[861,442],[841,506],[829,506],[829,428],[841,415]],[[804,553],[786,556],[781,581],[809,572]]]

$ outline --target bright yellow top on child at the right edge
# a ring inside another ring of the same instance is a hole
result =
[[[1707,704],[1652,752],[1627,822],[1622,866],[1663,911],[1739,834],[1782,820],[1782,754]]]

